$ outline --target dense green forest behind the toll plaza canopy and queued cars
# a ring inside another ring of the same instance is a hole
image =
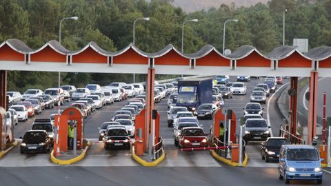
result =
[[[79,19],[63,21],[61,44],[79,50],[95,41],[108,51],[121,50],[132,42],[133,22],[136,24],[136,45],[146,52],[157,52],[172,44],[181,48],[181,28],[185,23],[184,52],[197,52],[203,45],[222,50],[223,23],[226,26],[225,48],[234,51],[241,45],[252,45],[268,53],[282,43],[283,10],[285,12],[285,44],[294,38],[309,39],[309,47],[331,45],[331,0],[271,0],[250,7],[235,8],[222,4],[186,13],[174,7],[172,0],[2,0],[0,1],[0,41],[16,38],[30,48],[40,48],[50,40],[59,39],[59,22],[63,17]],[[140,74],[137,81],[143,81]],[[132,81],[126,74],[62,73],[61,84],[83,86],[86,83],[107,85],[111,81]],[[8,90],[57,87],[57,72],[8,72]]]

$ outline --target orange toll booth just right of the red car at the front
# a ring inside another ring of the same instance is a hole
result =
[[[228,123],[230,121],[230,141],[232,143],[236,142],[236,130],[237,130],[237,121],[236,121],[236,114],[234,112],[228,112],[227,110],[226,115],[226,122],[225,122],[225,114],[223,114],[222,109],[218,109],[214,112],[214,136],[219,138],[219,125],[220,123],[223,123],[226,129],[228,130]],[[230,120],[229,120],[230,118]],[[225,122],[225,123],[224,123]],[[227,136],[228,134],[225,134]]]

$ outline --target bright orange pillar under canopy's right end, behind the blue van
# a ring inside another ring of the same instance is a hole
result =
[[[308,144],[310,145],[312,144],[312,139],[316,136],[318,83],[319,73],[310,72],[308,109]]]

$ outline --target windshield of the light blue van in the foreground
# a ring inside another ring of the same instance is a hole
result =
[[[316,149],[288,149],[288,161],[319,161]]]

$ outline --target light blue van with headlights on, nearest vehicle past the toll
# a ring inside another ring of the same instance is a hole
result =
[[[279,179],[317,180],[322,183],[322,167],[319,152],[312,145],[282,145],[279,154]]]

